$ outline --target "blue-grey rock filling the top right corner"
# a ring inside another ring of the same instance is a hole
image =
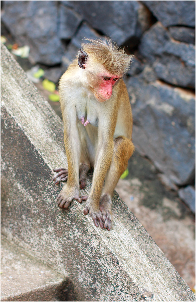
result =
[[[164,26],[195,27],[195,1],[142,1]]]

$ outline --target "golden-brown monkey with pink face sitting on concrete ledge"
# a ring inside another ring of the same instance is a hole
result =
[[[60,208],[86,201],[84,215],[110,230],[114,188],[134,152],[131,105],[122,79],[132,56],[111,38],[86,40],[59,81],[68,170],[54,169],[53,180],[66,181],[57,197]],[[90,193],[80,197],[91,168]]]

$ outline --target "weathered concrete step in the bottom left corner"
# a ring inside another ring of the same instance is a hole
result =
[[[1,236],[1,301],[64,301],[68,284],[67,277]]]

